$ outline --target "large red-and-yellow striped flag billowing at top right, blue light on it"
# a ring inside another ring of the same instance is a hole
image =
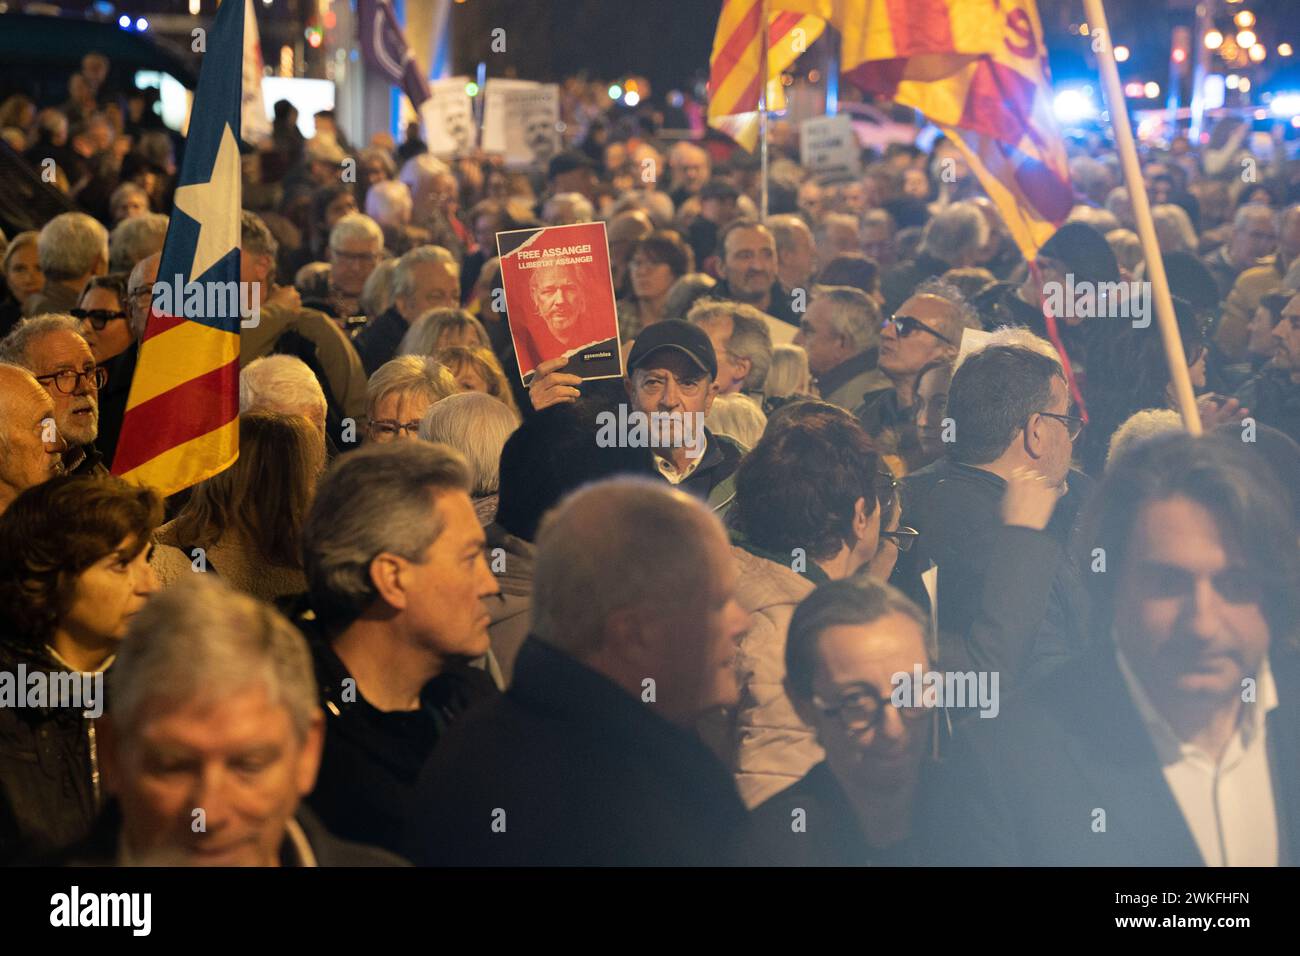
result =
[[[1035,0],[771,0],[841,34],[844,78],[920,111],[970,163],[1026,259],[1074,202]]]

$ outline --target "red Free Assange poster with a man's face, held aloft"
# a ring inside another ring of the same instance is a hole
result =
[[[538,364],[569,355],[582,378],[623,375],[604,222],[497,233],[506,319],[524,385]]]

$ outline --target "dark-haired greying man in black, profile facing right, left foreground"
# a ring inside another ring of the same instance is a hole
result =
[[[497,696],[488,652],[498,585],[445,445],[369,445],[321,483],[303,528],[306,630],[325,752],[308,803],[339,836],[396,849],[420,767],[446,727]]]

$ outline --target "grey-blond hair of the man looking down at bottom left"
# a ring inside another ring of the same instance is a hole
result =
[[[159,701],[172,708],[265,687],[303,740],[320,718],[307,641],[274,607],[211,575],[155,594],[109,671],[109,715],[127,740]]]

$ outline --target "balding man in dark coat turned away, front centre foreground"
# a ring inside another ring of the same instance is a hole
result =
[[[615,479],[562,503],[538,538],[533,635],[515,680],[434,750],[410,856],[737,861],[744,805],[690,730],[737,698],[732,658],[748,620],[734,575],[720,523],[662,484]]]

